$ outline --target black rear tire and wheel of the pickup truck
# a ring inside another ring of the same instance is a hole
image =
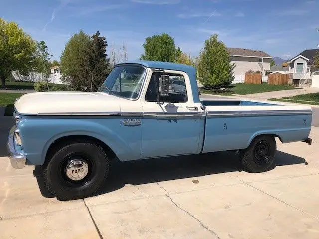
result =
[[[251,173],[267,171],[274,163],[276,150],[276,141],[273,136],[257,136],[249,147],[242,152],[244,170]]]

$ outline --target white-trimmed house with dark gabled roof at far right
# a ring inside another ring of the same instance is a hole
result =
[[[319,69],[314,65],[314,57],[319,49],[309,49],[296,55],[289,63],[289,78],[292,83],[299,86],[310,86],[313,73]]]

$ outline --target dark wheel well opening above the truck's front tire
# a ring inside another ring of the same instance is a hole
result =
[[[46,155],[45,155],[45,161],[47,161],[48,156],[50,156],[57,148],[62,147],[70,142],[80,142],[80,141],[94,142],[94,143],[98,144],[99,146],[101,146],[107,152],[108,157],[110,159],[113,159],[116,157],[116,154],[114,153],[114,151],[108,145],[106,145],[104,142],[102,142],[101,140],[99,140],[97,138],[87,136],[87,135],[70,135],[70,136],[61,137],[61,138],[55,140],[50,145],[50,147],[48,148]]]

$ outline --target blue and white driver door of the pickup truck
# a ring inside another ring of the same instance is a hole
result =
[[[160,72],[154,72],[142,100],[143,129],[141,158],[195,154],[199,149],[201,115],[200,103],[193,103],[187,74],[169,73],[178,77],[185,91],[173,92],[160,97],[158,102]],[[172,81],[170,81],[172,82]],[[171,83],[170,83],[171,84]]]

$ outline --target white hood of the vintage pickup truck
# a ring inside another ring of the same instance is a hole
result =
[[[35,92],[22,95],[14,107],[22,115],[119,114],[129,101],[100,92]]]

